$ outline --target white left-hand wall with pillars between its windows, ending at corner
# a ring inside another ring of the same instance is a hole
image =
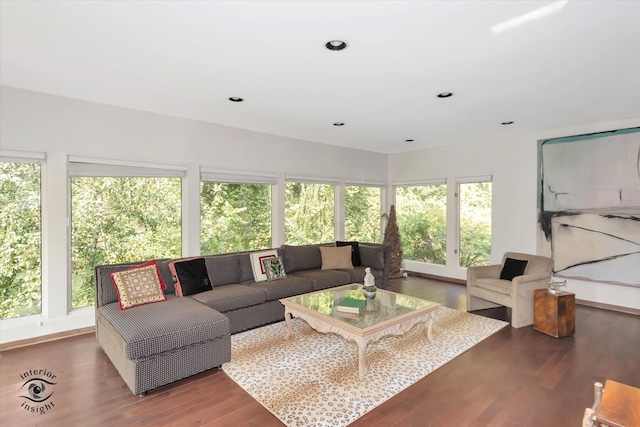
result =
[[[92,307],[70,310],[67,157],[187,166],[190,202],[183,253],[199,253],[198,167],[386,183],[387,156],[69,98],[0,87],[0,150],[46,153],[43,167],[43,314],[0,321],[0,342],[94,324]],[[278,204],[284,206],[284,190]],[[284,239],[284,215],[274,245]]]

